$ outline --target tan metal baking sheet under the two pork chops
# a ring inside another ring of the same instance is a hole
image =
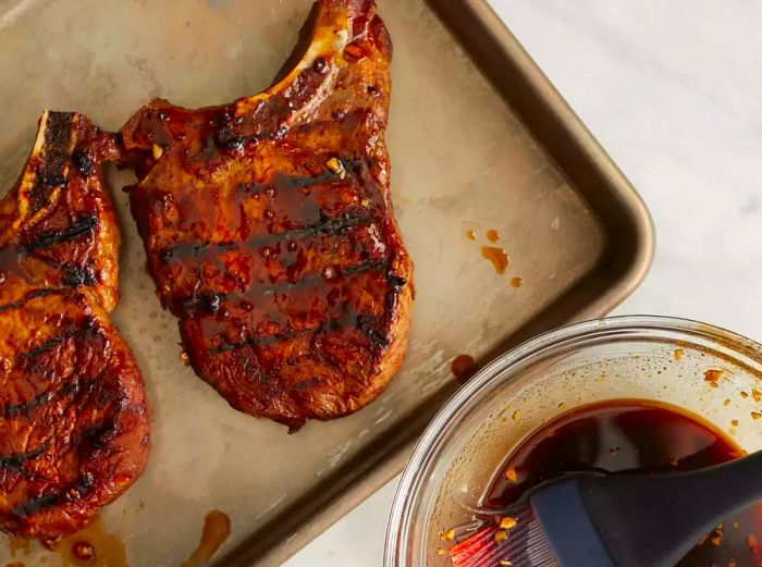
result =
[[[402,468],[458,387],[455,356],[486,361],[530,334],[601,316],[648,270],[642,202],[482,0],[378,1],[395,45],[389,149],[417,299],[405,367],[368,408],[287,435],[198,380],[144,270],[121,190],[132,176],[110,172],[124,237],[114,320],[152,409],[148,469],[102,513],[133,567],[182,564],[211,509],[233,526],[217,565],[279,565]],[[197,107],[261,90],[310,4],[0,0],[0,183],[15,180],[41,109],[78,110],[115,130],[157,96]],[[511,257],[503,275],[480,255],[490,229]],[[10,553],[0,544],[0,559],[60,563],[41,547]]]

